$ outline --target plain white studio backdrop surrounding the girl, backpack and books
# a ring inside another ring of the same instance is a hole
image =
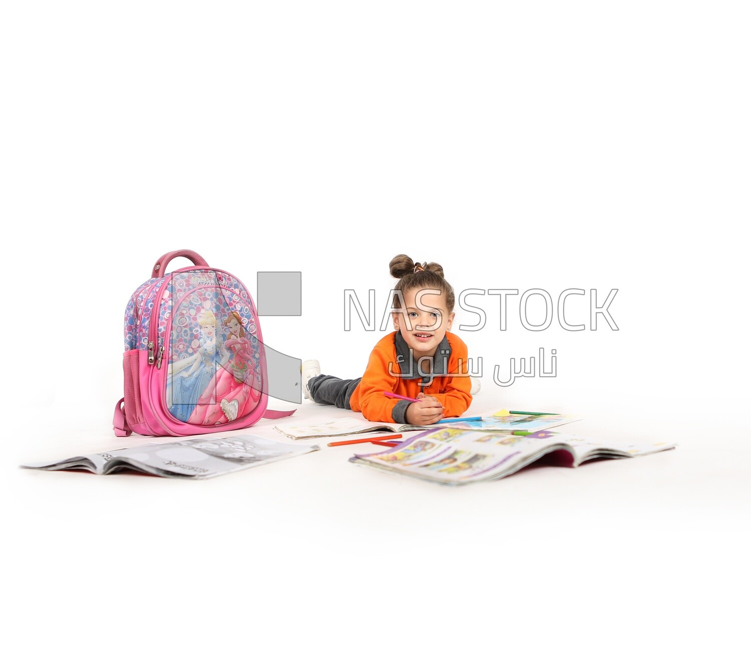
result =
[[[6,645],[736,652],[748,28],[741,2],[5,6]],[[178,248],[254,295],[257,271],[301,271],[302,316],[264,340],[342,377],[382,335],[343,330],[343,290],[375,289],[380,317],[397,253],[457,295],[617,288],[618,332],[578,297],[586,331],[526,331],[512,297],[501,332],[498,298],[473,298],[471,410],[678,447],[455,490],[323,446],[203,483],[17,468],[143,441],[110,428],[122,312]],[[538,347],[556,378],[493,383]]]

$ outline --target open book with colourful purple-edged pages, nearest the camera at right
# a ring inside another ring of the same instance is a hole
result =
[[[555,431],[525,436],[497,431],[442,428],[423,431],[377,453],[357,454],[351,463],[425,481],[459,486],[506,477],[553,454],[556,465],[576,467],[590,459],[622,459],[670,450],[675,444],[644,442],[605,444]]]

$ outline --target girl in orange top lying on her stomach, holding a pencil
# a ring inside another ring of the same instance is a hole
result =
[[[427,425],[457,417],[472,402],[467,347],[450,333],[454,289],[435,262],[415,264],[401,254],[389,263],[394,287],[394,332],[375,345],[358,379],[321,374],[318,361],[303,363],[303,392],[317,404],[359,410],[371,422]],[[415,398],[389,398],[384,392]]]

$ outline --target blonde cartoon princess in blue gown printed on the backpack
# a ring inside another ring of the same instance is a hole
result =
[[[173,417],[187,422],[195,410],[201,393],[212,383],[216,371],[229,359],[229,354],[222,342],[222,336],[216,335],[216,316],[211,310],[204,310],[198,317],[201,326],[201,338],[195,355],[191,357],[192,365],[185,365],[182,371],[172,376],[172,404],[170,413]]]

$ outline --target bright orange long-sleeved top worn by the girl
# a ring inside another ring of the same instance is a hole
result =
[[[412,365],[411,370],[408,363]],[[427,373],[425,361],[422,370]],[[430,374],[421,376],[418,362],[412,358],[401,333],[391,332],[373,347],[365,374],[349,398],[350,407],[361,411],[371,422],[404,424],[411,402],[386,397],[384,391],[405,397],[416,397],[418,392],[424,392],[443,404],[444,416],[460,416],[472,403],[469,394],[472,382],[469,376],[454,376],[457,372],[467,373],[467,346],[454,333],[446,333],[436,349],[432,372],[432,380]]]

